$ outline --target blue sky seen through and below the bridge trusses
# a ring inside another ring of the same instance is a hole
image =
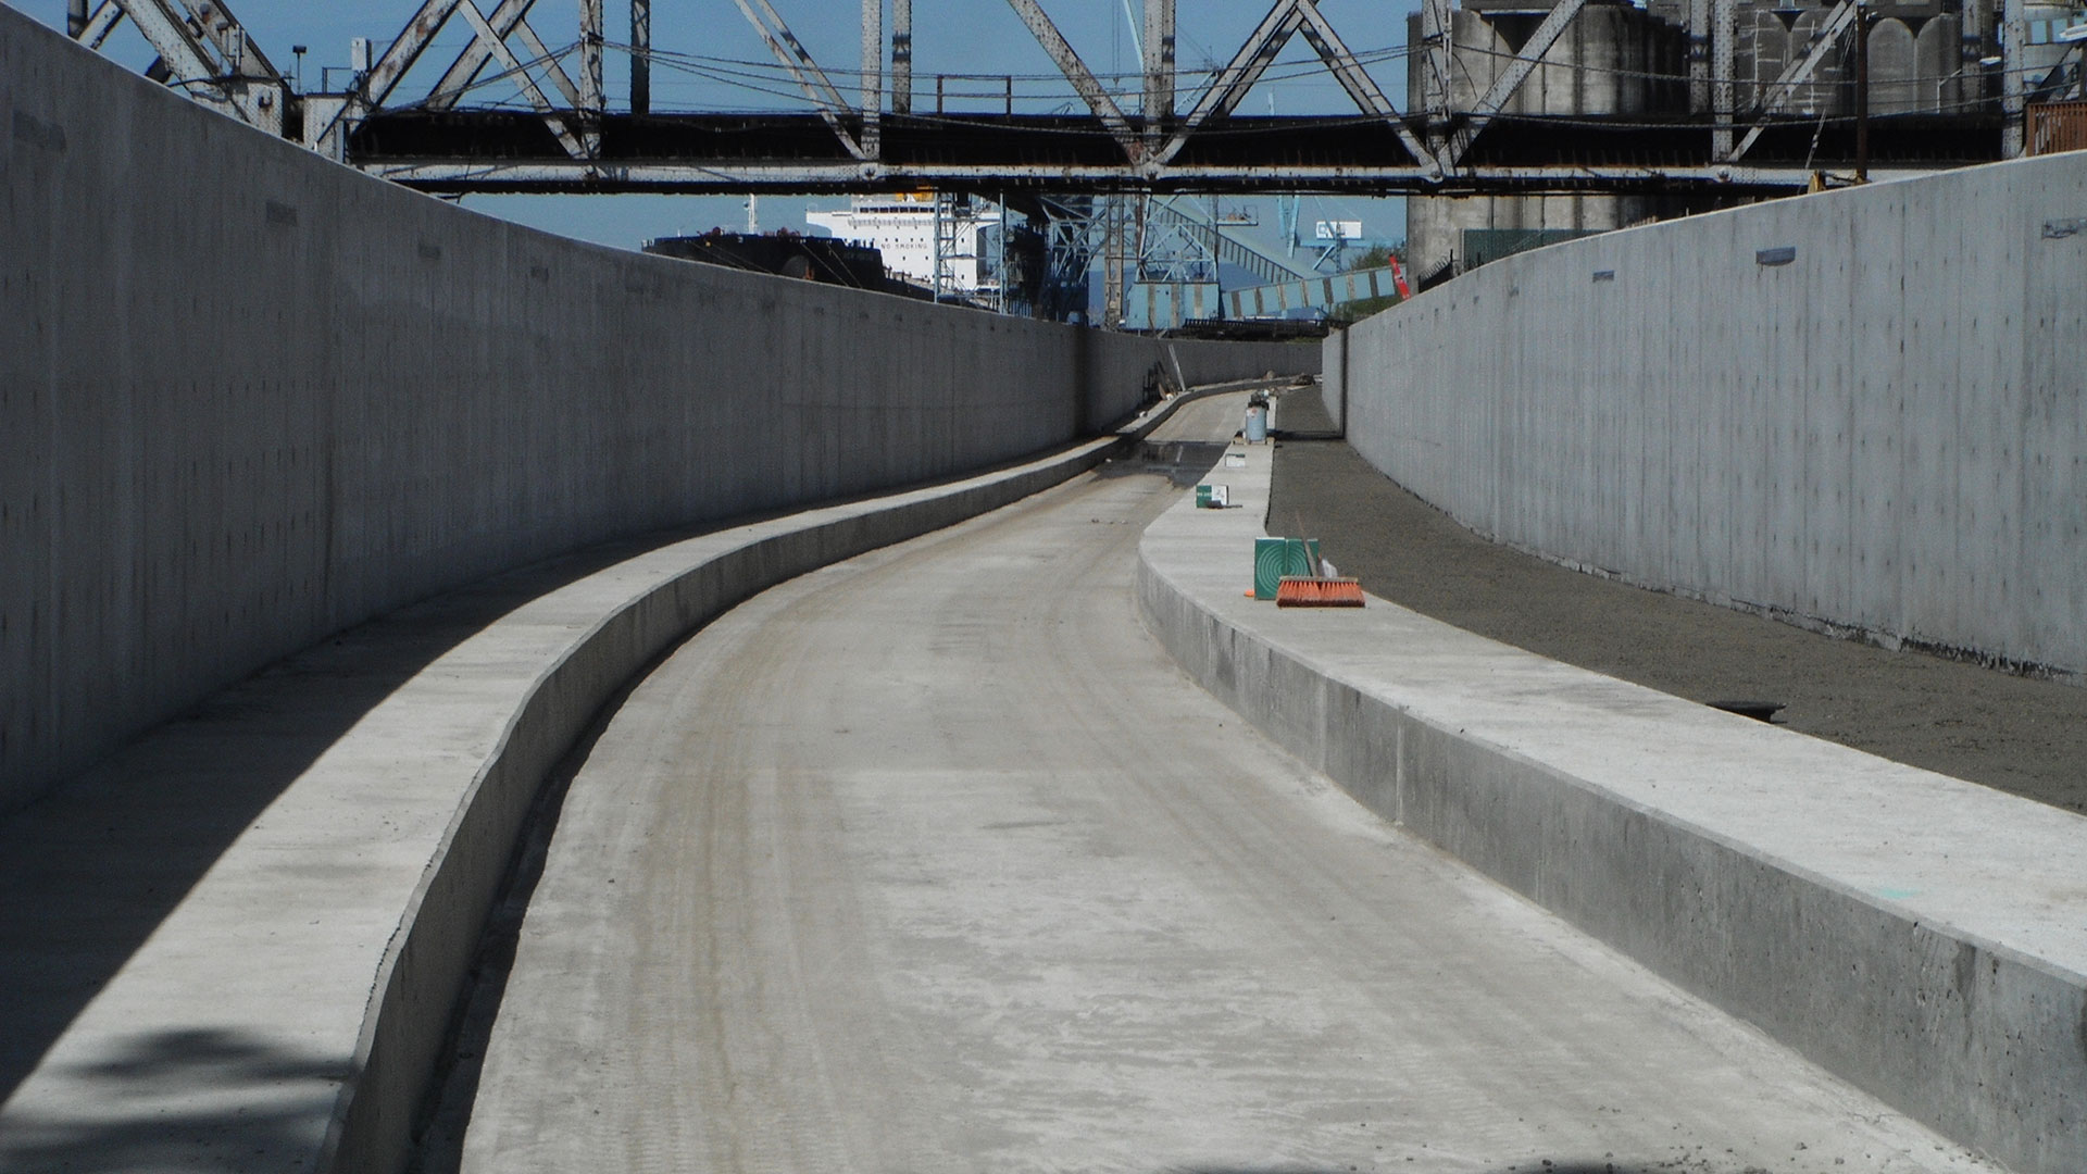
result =
[[[833,73],[835,84],[849,90],[862,54],[860,0],[770,2],[812,56]],[[8,4],[54,27],[65,25],[65,0],[8,0]],[[349,63],[351,38],[369,38],[371,52],[382,52],[417,6],[419,0],[232,0],[232,10],[280,69],[294,67],[290,46],[309,48],[303,77],[311,90],[319,88],[326,67],[334,67],[334,81],[340,81],[338,69]],[[493,0],[482,0],[480,8],[490,10]],[[616,52],[614,46],[628,44],[630,4],[605,0],[603,8],[605,38],[611,44],[605,56],[605,75],[609,102],[616,107],[628,100],[628,56]],[[1098,75],[1133,75],[1137,71],[1135,36],[1140,31],[1133,29],[1133,19],[1142,19],[1142,0],[1129,0],[1129,4],[1125,0],[1044,0],[1044,8]],[[1371,50],[1405,44],[1405,15],[1411,8],[1411,2],[1321,0],[1321,10],[1342,31],[1348,46],[1365,56]],[[1267,10],[1269,0],[1177,0],[1181,71],[1215,69],[1229,61]],[[467,40],[461,19],[451,23],[455,27],[442,31],[436,48],[422,58],[401,88],[401,96],[426,92],[428,84],[440,75],[455,50]],[[530,13],[530,25],[551,50],[559,50],[578,38],[578,4],[574,0],[538,0]],[[662,54],[653,67],[655,111],[806,109],[791,86],[772,79],[774,61],[733,0],[653,0],[653,50]],[[134,69],[142,69],[152,58],[150,48],[127,27],[111,38],[104,52]],[[685,65],[674,65],[676,58],[668,54],[678,54]],[[743,81],[726,84],[724,75],[735,73],[743,75]],[[1056,77],[1050,58],[1004,0],[914,0],[916,90],[931,92],[931,75],[935,73],[1016,75],[1016,92],[1025,94],[1025,104],[1037,111],[1075,100],[1071,88]],[[1402,98],[1405,71],[1396,58],[1373,63],[1371,73],[1394,100]],[[415,81],[419,90],[413,88]],[[1183,77],[1183,104],[1198,81]],[[1135,88],[1129,79],[1123,86]],[[518,100],[509,84],[488,86],[484,98]],[[1271,100],[1281,113],[1354,111],[1332,77],[1317,69],[1317,58],[1311,56],[1302,38],[1294,38],[1277,67],[1248,96],[1246,109],[1267,111]],[[835,198],[768,196],[760,205],[760,226],[801,232],[806,207],[839,207],[841,203]],[[743,201],[718,196],[467,196],[463,205],[563,236],[624,249],[634,249],[651,236],[703,232],[712,226],[743,228],[747,217]],[[1277,236],[1273,201],[1252,201],[1252,205],[1263,219],[1258,236],[1273,242]],[[1405,219],[1398,209],[1398,201],[1306,198],[1304,234],[1311,236],[1313,219],[1361,219],[1369,236],[1402,238]]]

